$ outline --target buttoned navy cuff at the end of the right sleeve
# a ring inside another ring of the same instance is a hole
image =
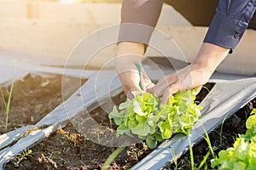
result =
[[[207,31],[204,42],[213,43],[223,48],[230,48],[230,53],[240,42],[247,23],[230,19],[221,14],[215,14]]]

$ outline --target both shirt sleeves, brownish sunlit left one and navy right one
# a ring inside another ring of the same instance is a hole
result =
[[[162,0],[123,0],[119,42],[148,44],[159,19],[162,3]],[[252,19],[255,7],[256,0],[219,0],[204,42],[230,48],[231,53]],[[139,25],[125,25],[127,23]]]

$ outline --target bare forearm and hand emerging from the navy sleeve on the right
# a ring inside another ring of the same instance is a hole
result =
[[[161,103],[166,104],[177,91],[201,88],[229,51],[230,49],[204,42],[195,61],[176,73],[161,78],[150,92],[156,96],[163,96]]]

